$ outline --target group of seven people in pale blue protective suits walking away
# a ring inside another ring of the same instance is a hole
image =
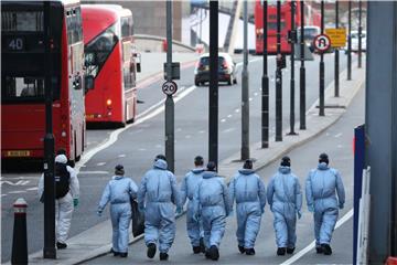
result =
[[[344,187],[337,170],[329,167],[329,157],[321,153],[316,169],[309,172],[305,198],[314,216],[315,250],[332,254],[331,237],[345,202]],[[167,158],[158,155],[152,168],[143,176],[140,187],[124,177],[122,166],[107,184],[98,205],[98,214],[110,202],[112,222],[112,253],[127,256],[128,226],[131,218],[130,200],[137,199],[144,213],[144,242],[147,256],[153,258],[157,250],[160,261],[169,259],[169,250],[175,237],[175,214],[186,204],[186,230],[194,254],[205,253],[212,261],[219,258],[219,245],[225,234],[226,219],[237,219],[237,247],[242,254],[255,255],[255,242],[260,230],[266,203],[273,214],[277,255],[292,254],[296,250],[297,219],[302,216],[302,192],[299,179],[291,170],[291,159],[283,157],[267,189],[255,173],[251,160],[230,179],[228,186],[217,173],[216,163],[197,156],[194,168],[178,188],[175,176],[168,170]]]

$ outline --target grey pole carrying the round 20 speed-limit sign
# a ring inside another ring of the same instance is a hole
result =
[[[172,81],[172,1],[167,1],[167,81]],[[165,157],[168,169],[174,172],[174,100],[165,99]]]

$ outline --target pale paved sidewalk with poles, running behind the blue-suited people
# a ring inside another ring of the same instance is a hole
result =
[[[174,56],[176,57],[176,56]],[[176,60],[175,60],[176,61]],[[260,142],[254,144],[250,147],[251,157],[257,161],[256,169],[261,169],[271,161],[278,159],[283,153],[303,145],[309,141],[328,127],[333,125],[346,110],[358,89],[363,86],[365,81],[365,68],[353,68],[354,80],[346,81],[346,71],[340,75],[340,91],[339,98],[333,97],[333,83],[325,91],[325,106],[333,106],[325,109],[325,117],[319,117],[318,102],[307,112],[307,130],[298,130],[298,136],[286,136],[283,132],[283,141],[275,142],[270,139],[269,148],[261,149]],[[335,107],[339,106],[339,107]],[[297,125],[299,128],[299,124]],[[237,169],[240,168],[239,152],[223,160],[219,163],[219,173],[226,178],[232,177]],[[238,161],[238,162],[236,162]],[[140,240],[131,239],[131,243]],[[105,221],[98,225],[69,239],[67,241],[67,250],[57,251],[57,259],[43,259],[42,252],[34,253],[29,256],[30,264],[79,264],[85,261],[93,259],[97,256],[105,255],[111,247],[111,225],[110,221]]]

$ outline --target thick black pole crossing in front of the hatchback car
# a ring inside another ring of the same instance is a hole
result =
[[[218,2],[210,1],[208,161],[218,162]]]

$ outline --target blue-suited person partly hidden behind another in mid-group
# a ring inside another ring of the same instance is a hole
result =
[[[184,205],[186,200],[189,199],[187,210],[186,210],[186,230],[194,254],[205,252],[202,222],[201,220],[195,220],[193,216],[194,215],[193,197],[198,183],[203,179],[204,170],[205,169],[204,169],[203,157],[201,156],[195,157],[194,169],[192,169],[189,173],[186,173],[186,176],[184,177],[181,183],[181,205]]]

